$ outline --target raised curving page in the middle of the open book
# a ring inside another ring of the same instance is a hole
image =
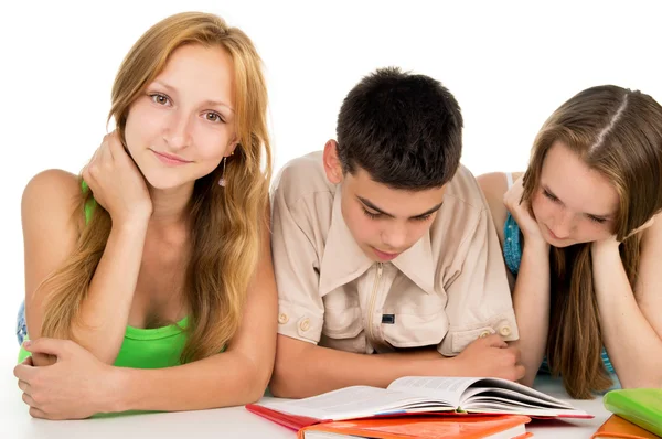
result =
[[[451,376],[405,376],[397,378],[388,386],[391,390],[404,392],[410,395],[442,399],[452,407],[460,405],[462,394],[469,386],[481,378]]]

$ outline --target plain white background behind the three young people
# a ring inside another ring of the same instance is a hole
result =
[[[334,136],[346,92],[380,66],[440,79],[462,107],[462,162],[522,170],[545,118],[583,88],[662,101],[661,14],[642,1],[11,1],[0,6],[0,374],[23,297],[20,200],[41,170],[78,172],[106,132],[134,42],[175,12],[243,29],[261,54],[276,169]]]

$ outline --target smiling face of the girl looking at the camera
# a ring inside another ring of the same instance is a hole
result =
[[[153,188],[192,183],[236,146],[234,67],[220,46],[177,49],[166,68],[132,103],[125,138]]]

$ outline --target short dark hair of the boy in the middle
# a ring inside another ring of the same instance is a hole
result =
[[[362,168],[393,189],[439,188],[460,164],[462,115],[438,81],[380,68],[344,98],[337,140],[343,172]]]

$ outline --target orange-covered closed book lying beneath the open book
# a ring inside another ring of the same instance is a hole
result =
[[[323,433],[334,433],[375,439],[522,439],[533,436],[524,427],[528,421],[531,418],[520,415],[360,419],[306,427],[299,430],[297,438],[322,438]]]

